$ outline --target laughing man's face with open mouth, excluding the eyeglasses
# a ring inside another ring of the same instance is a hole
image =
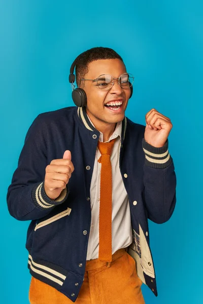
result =
[[[89,63],[85,79],[96,79],[102,74],[110,74],[119,78],[126,73],[125,65],[120,59],[95,60]],[[87,95],[87,114],[92,123],[98,128],[104,124],[115,124],[124,119],[125,109],[130,96],[130,88],[121,88],[117,80],[110,90],[99,89],[96,82],[84,81],[84,90]],[[116,106],[106,104],[114,101],[122,103]]]

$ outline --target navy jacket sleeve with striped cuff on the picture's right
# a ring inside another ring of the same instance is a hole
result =
[[[176,174],[168,152],[168,140],[163,147],[150,145],[143,138],[145,153],[144,197],[148,218],[164,223],[173,214],[176,204]]]

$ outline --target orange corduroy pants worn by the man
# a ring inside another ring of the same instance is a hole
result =
[[[125,249],[119,249],[112,255],[112,262],[98,259],[86,262],[84,281],[75,303],[145,304],[141,285],[136,262]],[[31,304],[73,304],[64,294],[33,277],[29,301]]]

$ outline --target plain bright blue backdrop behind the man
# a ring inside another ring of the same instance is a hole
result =
[[[70,66],[95,46],[115,49],[135,77],[126,116],[145,124],[154,107],[174,125],[177,206],[170,221],[150,222],[158,297],[143,286],[146,303],[203,302],[202,9],[197,0],[0,2],[2,302],[28,303],[28,222],[6,204],[25,134],[39,113],[73,105]]]

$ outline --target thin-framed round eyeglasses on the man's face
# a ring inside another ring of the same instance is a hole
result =
[[[91,80],[93,83],[96,83],[95,86],[102,90],[110,90],[114,85],[114,80],[117,80],[118,84],[121,86],[122,89],[128,89],[132,86],[134,82],[134,77],[132,76],[132,74],[129,73],[124,73],[120,75],[119,78],[113,78],[112,75],[103,74],[96,79],[81,79],[80,84],[81,81],[85,80]]]

